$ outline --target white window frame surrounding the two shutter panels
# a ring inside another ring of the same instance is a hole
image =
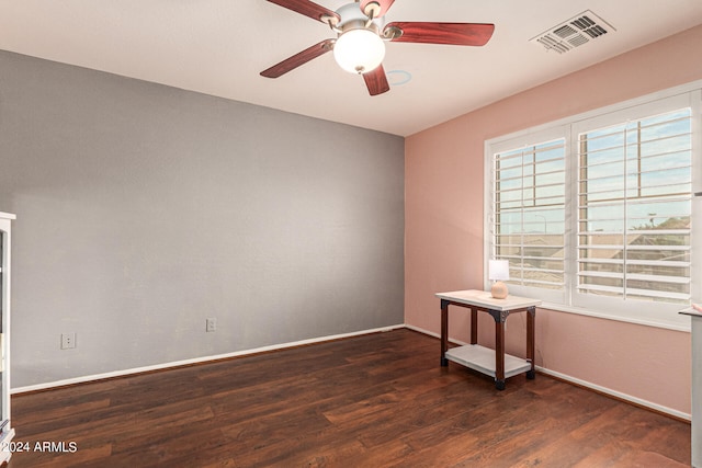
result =
[[[629,119],[645,118],[681,107],[691,109],[692,125],[692,207],[690,254],[691,297],[693,303],[702,301],[702,80],[647,94],[634,100],[577,114],[555,122],[539,125],[485,141],[484,207],[487,216],[484,222],[484,286],[489,289],[487,262],[494,258],[494,219],[496,214],[494,193],[494,155],[520,147],[534,146],[557,138],[565,139],[566,158],[566,236],[565,286],[563,290],[542,289],[509,285],[510,293],[519,296],[537,297],[544,308],[586,316],[639,323],[652,327],[688,331],[690,321],[680,316],[683,305],[623,300],[598,297],[577,292],[577,196],[578,196],[578,135],[607,125],[620,124]],[[582,297],[588,296],[588,297]]]

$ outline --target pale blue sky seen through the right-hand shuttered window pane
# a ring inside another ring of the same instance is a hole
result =
[[[579,145],[586,231],[652,229],[689,219],[689,109],[588,132]]]

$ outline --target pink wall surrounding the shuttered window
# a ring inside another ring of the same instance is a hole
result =
[[[406,323],[438,333],[434,293],[483,288],[486,139],[702,79],[701,44],[698,26],[408,137]],[[467,341],[467,313],[450,313],[450,334]],[[690,413],[689,333],[545,309],[536,324],[539,366]],[[508,352],[523,355],[523,333],[516,315]],[[491,344],[488,320],[479,336]]]

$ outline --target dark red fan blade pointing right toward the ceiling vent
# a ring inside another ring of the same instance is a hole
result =
[[[458,46],[483,46],[492,36],[495,24],[483,23],[421,23],[396,21],[384,31],[397,27],[403,35],[392,41],[396,43],[450,44]]]

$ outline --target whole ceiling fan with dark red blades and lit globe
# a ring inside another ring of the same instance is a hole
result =
[[[389,91],[383,58],[385,43],[423,43],[483,46],[492,36],[494,24],[432,23],[395,21],[384,24],[383,16],[395,0],[356,0],[331,11],[309,0],[268,0],[313,20],[326,23],[337,33],[261,71],[267,78],[279,78],[291,70],[333,50],[339,66],[363,76],[371,95]]]

